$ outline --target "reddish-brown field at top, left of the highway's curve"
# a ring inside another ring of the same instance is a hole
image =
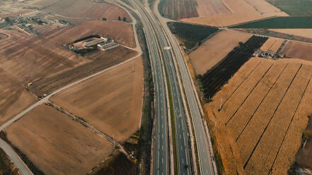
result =
[[[35,5],[47,6],[45,1],[39,1]],[[71,18],[117,19],[120,16],[130,19],[128,13],[118,6],[91,0],[58,0],[50,3],[43,11]]]

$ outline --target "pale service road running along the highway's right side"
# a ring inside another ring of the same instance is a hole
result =
[[[199,157],[200,164],[200,174],[216,174],[216,167],[213,157],[213,152],[211,149],[211,143],[209,138],[209,133],[207,133],[204,129],[204,122],[202,120],[202,108],[200,101],[197,96],[197,92],[195,91],[194,83],[192,82],[192,78],[190,78],[190,73],[188,72],[188,68],[184,59],[184,56],[180,50],[179,44],[175,37],[169,30],[168,25],[164,22],[160,13],[156,11],[156,16],[158,21],[161,23],[164,32],[168,36],[168,40],[171,43],[171,47],[175,54],[175,58],[178,61],[178,66],[180,70],[180,75],[183,80],[183,85],[185,89],[185,95],[187,97],[187,102],[190,107],[190,114],[192,116],[192,123],[195,128],[195,137],[197,143],[197,155]]]

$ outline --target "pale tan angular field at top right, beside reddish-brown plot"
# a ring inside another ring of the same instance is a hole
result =
[[[278,8],[268,4],[265,0],[223,0],[222,2],[224,6],[231,11],[231,13],[185,18],[182,21],[187,23],[223,27],[272,16],[288,16],[287,13],[279,11]],[[270,6],[270,8],[268,8],[268,6]]]

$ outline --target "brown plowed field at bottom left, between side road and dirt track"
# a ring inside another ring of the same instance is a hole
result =
[[[52,107],[41,105],[6,128],[8,140],[43,173],[86,174],[113,146]]]

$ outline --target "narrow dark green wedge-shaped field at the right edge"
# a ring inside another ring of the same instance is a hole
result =
[[[312,28],[312,16],[277,17],[259,20],[231,28]]]

